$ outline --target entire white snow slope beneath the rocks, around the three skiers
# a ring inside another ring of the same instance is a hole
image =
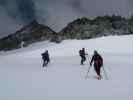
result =
[[[133,36],[110,36],[60,44],[42,42],[1,53],[0,100],[133,100],[132,42]],[[89,61],[80,65],[82,47],[89,60],[94,49],[99,51],[109,80],[96,80],[93,68],[85,79]],[[41,53],[46,49],[51,63],[44,72]]]

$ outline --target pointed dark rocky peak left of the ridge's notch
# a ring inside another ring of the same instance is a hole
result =
[[[39,24],[36,20],[24,26],[14,34],[0,39],[0,50],[12,50],[39,41],[56,42],[57,33],[48,26]]]

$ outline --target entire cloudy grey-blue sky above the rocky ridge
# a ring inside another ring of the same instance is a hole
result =
[[[60,31],[78,17],[132,13],[133,0],[0,0],[0,37],[33,19]]]

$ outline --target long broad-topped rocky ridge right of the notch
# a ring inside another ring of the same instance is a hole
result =
[[[98,16],[94,19],[81,18],[68,24],[59,34],[62,40],[133,34],[132,19],[115,15]]]

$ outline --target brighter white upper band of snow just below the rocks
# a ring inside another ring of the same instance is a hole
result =
[[[79,49],[85,48],[88,54],[92,54],[93,50],[98,50],[100,53],[110,54],[133,54],[133,47],[130,45],[133,43],[133,36],[107,36],[88,40],[64,40],[59,44],[51,42],[34,43],[26,48],[19,50],[8,51],[2,53],[6,54],[23,54],[27,56],[40,55],[46,49],[49,50],[52,56],[77,56]]]

